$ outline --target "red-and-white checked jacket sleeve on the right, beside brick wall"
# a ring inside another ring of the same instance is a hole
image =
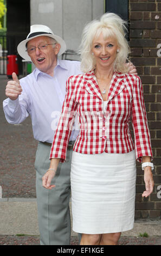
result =
[[[150,131],[147,123],[143,87],[140,77],[136,78],[133,87],[132,100],[132,126],[134,131],[134,145],[136,151],[136,159],[142,161],[142,156],[152,157]]]

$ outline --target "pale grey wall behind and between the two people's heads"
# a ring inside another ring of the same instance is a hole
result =
[[[30,8],[31,25],[50,27],[76,51],[85,23],[104,14],[104,0],[30,0]]]

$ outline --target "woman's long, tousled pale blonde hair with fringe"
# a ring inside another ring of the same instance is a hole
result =
[[[100,21],[94,20],[86,25],[83,29],[82,41],[79,48],[81,70],[83,72],[95,69],[95,59],[92,56],[91,49],[94,38],[98,38],[101,33],[105,39],[108,37],[117,39],[119,52],[114,61],[114,72],[128,72],[125,63],[128,61],[127,58],[130,48],[125,38],[125,32],[127,31],[126,23],[117,14],[106,13],[101,16]]]

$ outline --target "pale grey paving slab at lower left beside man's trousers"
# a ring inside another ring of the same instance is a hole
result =
[[[39,234],[36,202],[1,201],[0,220],[1,235]]]

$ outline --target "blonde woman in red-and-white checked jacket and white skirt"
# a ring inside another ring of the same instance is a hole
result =
[[[80,245],[117,245],[133,228],[136,159],[143,162],[146,191],[153,190],[152,149],[140,78],[127,74],[125,22],[112,13],[89,23],[81,43],[83,75],[67,81],[62,114],[43,186],[51,189],[66,150],[75,114],[80,132],[71,168],[73,230]],[[130,133],[130,118],[134,144]]]

